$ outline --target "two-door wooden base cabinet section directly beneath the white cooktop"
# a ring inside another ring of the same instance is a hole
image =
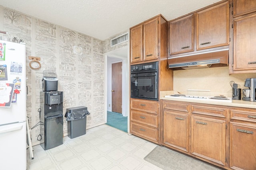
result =
[[[163,145],[228,169],[227,109],[162,100]]]

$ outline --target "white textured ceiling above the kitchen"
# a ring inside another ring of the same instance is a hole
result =
[[[106,40],[158,14],[169,21],[218,1],[220,0],[0,0],[0,5]]]

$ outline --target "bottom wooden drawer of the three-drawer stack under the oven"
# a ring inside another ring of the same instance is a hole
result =
[[[156,142],[158,140],[158,130],[154,128],[149,128],[136,123],[131,123],[131,132]]]

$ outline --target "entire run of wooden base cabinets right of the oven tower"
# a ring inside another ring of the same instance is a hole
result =
[[[162,100],[163,145],[224,169],[256,170],[256,109]]]

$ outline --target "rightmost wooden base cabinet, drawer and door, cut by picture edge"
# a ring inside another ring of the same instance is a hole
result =
[[[230,168],[256,170],[256,109],[230,108]]]

